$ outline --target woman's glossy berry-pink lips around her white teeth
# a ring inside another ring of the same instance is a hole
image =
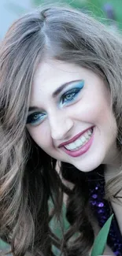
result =
[[[91,127],[93,128],[93,127]],[[90,128],[88,128],[87,130],[89,130]],[[75,137],[73,137],[72,139],[68,140],[68,142],[66,143],[61,143],[60,147],[63,151],[65,151],[66,154],[72,156],[73,158],[79,157],[80,155],[84,154],[87,152],[87,150],[89,150],[89,148],[91,147],[91,144],[93,142],[94,139],[94,131],[91,135],[91,139],[88,140],[88,142],[81,148],[79,148],[79,150],[75,150],[75,151],[71,151],[71,150],[67,150],[64,146],[74,142],[76,139],[78,139],[84,132],[87,132],[87,130],[80,132],[78,135],[76,135]]]

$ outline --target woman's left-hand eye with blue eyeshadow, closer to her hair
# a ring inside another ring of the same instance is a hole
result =
[[[28,116],[27,124],[31,124],[33,126],[40,124],[43,119],[46,117],[46,113],[31,113]]]

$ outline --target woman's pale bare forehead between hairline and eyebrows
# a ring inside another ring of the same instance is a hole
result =
[[[97,80],[97,75],[89,69],[81,66],[57,60],[46,60],[39,64],[35,71],[32,87],[30,105],[40,104],[50,99],[54,91],[64,83],[75,80]]]

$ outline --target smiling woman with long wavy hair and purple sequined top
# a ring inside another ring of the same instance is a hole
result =
[[[121,61],[120,35],[75,9],[40,8],[9,28],[0,49],[0,236],[14,256],[52,256],[53,245],[91,255],[111,213],[105,255],[121,255]],[[69,227],[60,222],[59,239],[50,220],[61,220],[64,198]]]

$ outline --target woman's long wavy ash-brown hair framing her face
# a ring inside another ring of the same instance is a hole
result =
[[[56,171],[57,161],[35,144],[26,129],[33,76],[44,58],[75,63],[105,80],[121,150],[122,41],[81,11],[46,6],[17,20],[0,47],[0,236],[15,256],[26,252],[52,256],[53,245],[65,256],[85,256],[94,241],[86,176],[61,163],[61,175],[74,184],[72,189],[66,187]],[[110,180],[106,197],[120,191],[121,179],[119,173]],[[65,232],[61,224],[59,239],[50,220],[56,216],[61,222],[64,193],[70,226]]]

